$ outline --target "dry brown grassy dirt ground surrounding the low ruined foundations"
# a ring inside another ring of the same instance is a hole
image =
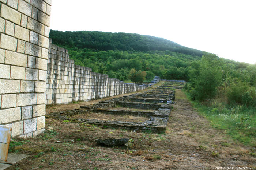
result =
[[[97,100],[89,103],[94,102]],[[74,109],[79,104],[50,106],[47,112]],[[164,134],[48,118],[45,133],[35,138],[13,139],[10,152],[31,156],[7,170],[204,170],[229,166],[256,169],[256,158],[249,154],[255,148],[243,146],[229,139],[224,131],[212,129],[181,90],[176,90],[173,107]],[[130,138],[131,143],[128,148],[99,146],[95,142],[98,138]]]

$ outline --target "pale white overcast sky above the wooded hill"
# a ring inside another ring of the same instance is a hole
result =
[[[53,0],[50,29],[151,35],[255,64],[255,7],[256,0]]]

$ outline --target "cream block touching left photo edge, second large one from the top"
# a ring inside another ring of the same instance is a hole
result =
[[[0,48],[16,51],[17,39],[5,34],[1,34]]]

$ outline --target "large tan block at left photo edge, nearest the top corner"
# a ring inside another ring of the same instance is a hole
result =
[[[1,4],[1,17],[19,25],[21,20],[21,13],[4,4]]]

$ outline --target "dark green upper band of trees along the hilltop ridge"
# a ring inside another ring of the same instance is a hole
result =
[[[50,31],[53,43],[66,47],[120,51],[165,51],[179,52],[192,56],[202,56],[200,50],[188,48],[170,40],[132,33],[111,33],[99,31]]]

